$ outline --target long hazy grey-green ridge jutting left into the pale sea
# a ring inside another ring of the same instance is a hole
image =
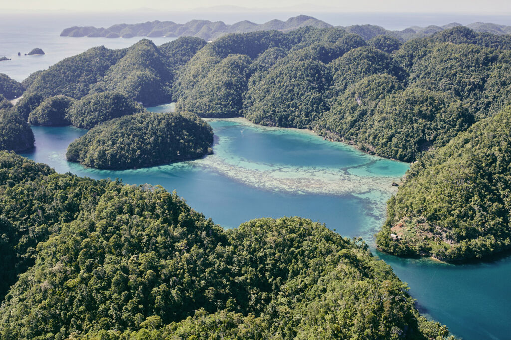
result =
[[[331,24],[316,18],[299,15],[287,21],[271,20],[263,24],[247,20],[227,25],[222,21],[192,20],[184,24],[172,21],[152,21],[136,24],[117,24],[107,29],[95,27],[71,27],[60,34],[61,37],[181,37],[193,36],[204,40],[213,40],[229,33],[248,33],[255,31],[291,31],[301,27],[331,28]]]

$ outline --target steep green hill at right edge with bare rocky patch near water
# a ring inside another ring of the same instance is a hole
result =
[[[426,153],[388,202],[378,247],[455,261],[511,248],[511,107]]]

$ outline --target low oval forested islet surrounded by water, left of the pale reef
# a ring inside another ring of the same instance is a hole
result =
[[[112,119],[71,143],[70,162],[97,169],[134,169],[212,153],[213,130],[194,114],[150,113]]]

